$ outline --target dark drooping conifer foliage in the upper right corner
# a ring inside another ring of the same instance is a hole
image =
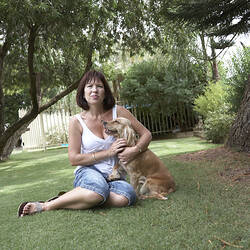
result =
[[[250,27],[248,0],[193,0],[179,1],[176,6],[165,6],[163,13],[171,18],[188,22],[210,35],[228,36],[247,33]]]

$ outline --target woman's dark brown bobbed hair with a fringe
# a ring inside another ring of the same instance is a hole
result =
[[[76,93],[76,103],[79,107],[83,108],[84,110],[89,109],[89,105],[84,97],[84,88],[85,85],[92,80],[100,80],[103,83],[104,90],[105,90],[105,98],[103,100],[103,108],[105,110],[109,110],[114,107],[115,105],[115,98],[111,92],[111,89],[108,85],[107,80],[105,79],[105,76],[98,71],[91,70],[88,71],[87,73],[84,74],[82,79],[80,80],[80,83],[77,88],[77,93]]]

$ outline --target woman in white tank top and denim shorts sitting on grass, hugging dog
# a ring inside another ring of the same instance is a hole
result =
[[[135,203],[136,195],[125,180],[107,181],[112,167],[119,160],[126,164],[150,141],[151,133],[128,110],[115,105],[114,97],[104,75],[87,72],[81,79],[76,96],[83,112],[69,123],[68,155],[75,169],[74,189],[56,199],[25,202],[19,206],[19,216],[55,209],[88,209],[97,206],[124,207]],[[115,140],[105,133],[102,121],[116,117],[128,118],[140,139],[134,147],[127,147],[125,139]]]

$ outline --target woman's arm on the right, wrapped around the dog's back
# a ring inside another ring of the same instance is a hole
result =
[[[127,147],[118,155],[119,159],[124,163],[130,162],[137,154],[147,150],[150,141],[152,140],[151,132],[145,128],[127,109],[122,106],[117,106],[118,117],[125,117],[132,123],[133,129],[139,135],[139,140],[134,147]]]

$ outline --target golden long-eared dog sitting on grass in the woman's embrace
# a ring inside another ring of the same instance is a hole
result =
[[[128,146],[136,145],[137,136],[128,119],[119,117],[113,121],[103,122],[103,125],[107,134],[115,138],[125,138]],[[119,162],[114,166],[109,180],[120,179],[124,170],[129,175],[130,183],[139,199],[166,200],[166,195],[175,191],[175,182],[167,167],[149,149],[138,154],[126,165]]]

